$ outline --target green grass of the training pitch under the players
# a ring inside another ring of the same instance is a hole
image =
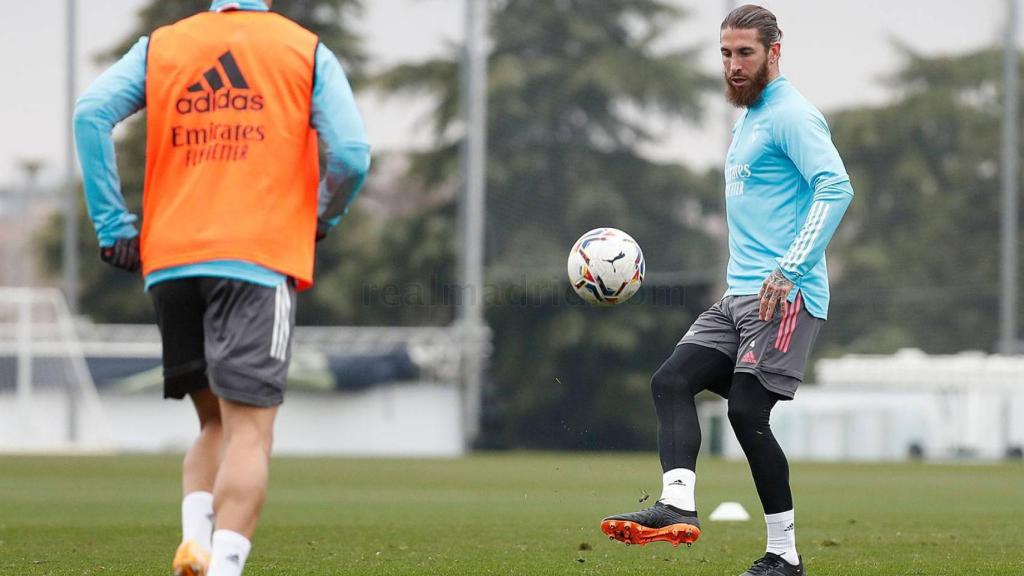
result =
[[[0,457],[0,574],[169,574],[177,457]],[[459,460],[276,458],[247,575],[723,575],[764,550],[745,464],[702,461],[692,548],[598,529],[660,487],[653,454]],[[1024,574],[1024,466],[796,464],[811,576]]]

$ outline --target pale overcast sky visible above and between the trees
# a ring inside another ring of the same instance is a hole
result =
[[[121,40],[146,0],[77,0],[80,92],[102,68],[95,54]],[[173,1],[173,0],[163,0]],[[287,2],[288,0],[278,0]],[[698,46],[699,65],[718,71],[718,26],[727,0],[669,0],[690,15],[671,42]],[[768,0],[785,34],[782,71],[826,113],[843,107],[884,102],[883,83],[900,60],[899,39],[929,54],[992,45],[1001,38],[1007,0]],[[0,188],[24,180],[26,160],[44,162],[44,181],[66,165],[68,116],[65,87],[66,0],[5,2],[0,18]],[[443,50],[462,37],[463,0],[367,0],[361,23],[374,64],[417,59]],[[727,110],[710,98],[701,126],[667,126],[650,153],[667,160],[713,165],[726,146]],[[418,129],[422,102],[381,101],[359,95],[371,139],[378,150],[423,146]],[[709,146],[711,142],[713,146]]]

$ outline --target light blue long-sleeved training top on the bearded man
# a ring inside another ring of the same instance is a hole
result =
[[[736,121],[726,156],[726,295],[757,294],[779,269],[803,292],[807,312],[825,319],[825,248],[852,199],[824,117],[776,78]]]

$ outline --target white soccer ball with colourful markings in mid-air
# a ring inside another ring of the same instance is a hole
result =
[[[640,289],[644,261],[640,245],[613,228],[599,228],[580,237],[569,252],[569,284],[592,304],[625,302]]]

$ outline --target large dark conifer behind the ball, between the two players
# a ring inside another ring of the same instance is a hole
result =
[[[583,232],[614,225],[637,239],[655,277],[717,264],[702,225],[721,211],[720,177],[641,152],[656,140],[655,126],[699,118],[712,81],[692,50],[657,49],[683,15],[666,2],[490,6],[486,316],[495,345],[484,444],[650,446],[653,415],[628,415],[650,412],[649,374],[707,304],[708,287],[672,291],[652,281],[636,303],[593,310],[569,293],[564,258]],[[433,98],[436,143],[411,169],[427,184],[456,178],[458,70],[457,58],[442,57],[375,80],[386,92]]]

